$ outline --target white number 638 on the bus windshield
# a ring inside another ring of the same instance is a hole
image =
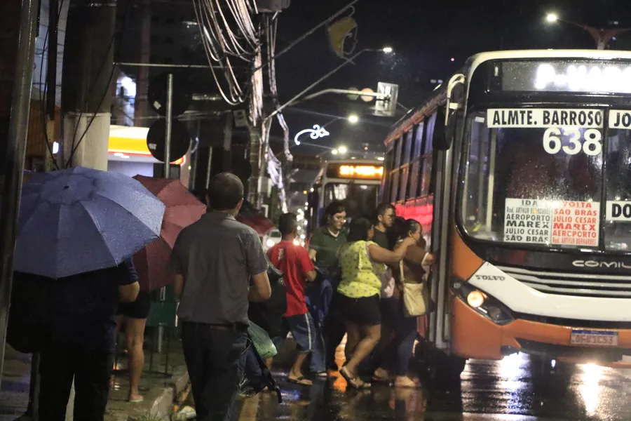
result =
[[[562,145],[561,135],[568,136],[569,145]],[[583,142],[581,142],[583,138]],[[581,135],[578,127],[557,128],[550,127],[543,133],[543,149],[548,154],[558,154],[560,151],[568,155],[576,155],[581,150],[590,156],[602,152],[602,133],[597,128],[588,128]]]

